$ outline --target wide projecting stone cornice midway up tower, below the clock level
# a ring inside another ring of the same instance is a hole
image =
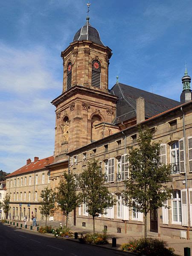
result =
[[[76,94],[82,94],[82,95],[89,95],[89,96],[94,96],[96,98],[102,98],[102,99],[107,99],[107,100],[111,100],[113,102],[117,101],[117,96],[112,95],[110,93],[105,93],[102,91],[97,91],[91,88],[87,88],[87,87],[83,87],[81,85],[75,85],[73,86],[70,90],[65,91],[64,93],[62,93],[60,96],[58,96],[56,99],[52,100],[52,104],[54,106],[57,106],[60,102],[68,99],[69,97],[72,97]]]

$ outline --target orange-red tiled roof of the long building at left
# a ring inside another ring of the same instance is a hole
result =
[[[15,172],[12,172],[11,174],[7,175],[6,178],[15,176],[15,175],[19,175],[22,173],[26,173],[26,172],[33,172],[33,171],[44,169],[45,166],[49,165],[50,163],[53,163],[53,161],[54,161],[54,156],[40,159],[37,162],[29,163],[28,165],[21,167],[20,169],[16,170]]]

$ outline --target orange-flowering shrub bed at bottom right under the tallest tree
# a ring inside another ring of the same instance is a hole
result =
[[[174,256],[174,249],[167,248],[167,243],[163,240],[152,238],[141,238],[122,244],[120,250],[131,251],[134,253],[145,254],[149,256]]]

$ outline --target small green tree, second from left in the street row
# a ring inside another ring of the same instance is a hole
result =
[[[42,215],[45,215],[45,227],[47,227],[47,217],[50,215],[55,207],[55,192],[46,187],[41,191],[40,197],[42,198],[41,206],[39,207]]]

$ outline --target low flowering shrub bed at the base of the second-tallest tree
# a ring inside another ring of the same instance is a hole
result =
[[[79,238],[81,243],[89,244],[108,244],[108,235],[106,232],[103,233],[87,233],[84,236],[81,234]]]

